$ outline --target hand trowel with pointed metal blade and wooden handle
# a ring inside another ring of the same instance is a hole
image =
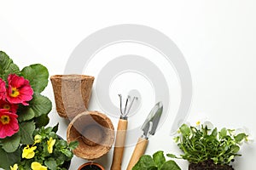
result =
[[[126,170],[131,170],[137,163],[139,158],[143,156],[148,145],[149,135],[154,135],[156,127],[160,121],[160,116],[163,112],[163,105],[161,102],[154,105],[153,109],[148,114],[147,119],[143,123],[143,135],[137,140],[135,149],[133,150],[130,162]]]

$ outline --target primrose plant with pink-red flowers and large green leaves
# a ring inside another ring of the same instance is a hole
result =
[[[0,51],[0,167],[9,169],[20,161],[21,144],[33,144],[33,133],[49,122],[51,101],[41,95],[48,84],[44,65],[21,71]]]

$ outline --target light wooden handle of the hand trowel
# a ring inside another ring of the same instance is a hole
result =
[[[129,161],[129,164],[126,170],[131,170],[132,167],[135,166],[135,164],[140,159],[140,157],[143,156],[143,154],[145,153],[147,145],[148,145],[148,139],[143,139],[143,138],[138,139],[136,147],[133,150],[131,160]]]

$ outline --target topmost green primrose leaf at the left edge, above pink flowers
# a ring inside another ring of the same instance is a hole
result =
[[[9,74],[20,74],[20,69],[7,54],[0,51],[0,78],[6,82]]]

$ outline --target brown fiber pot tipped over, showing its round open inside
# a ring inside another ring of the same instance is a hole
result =
[[[74,155],[95,160],[111,149],[114,129],[108,116],[98,111],[85,111],[73,118],[67,127],[67,142],[79,141]]]

